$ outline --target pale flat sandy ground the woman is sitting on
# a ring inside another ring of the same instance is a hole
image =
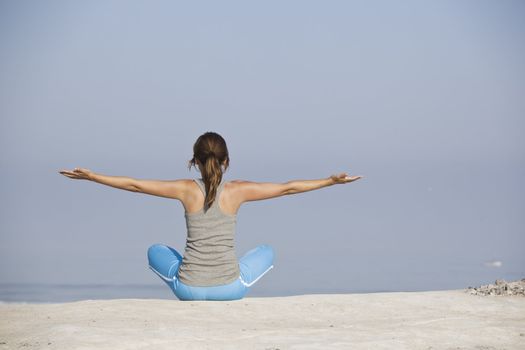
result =
[[[525,349],[525,297],[465,290],[1,304],[0,349]]]

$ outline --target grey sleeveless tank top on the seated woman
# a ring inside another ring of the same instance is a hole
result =
[[[194,181],[206,197],[202,178]],[[237,216],[224,213],[219,206],[223,187],[224,178],[206,213],[202,208],[198,212],[184,214],[188,237],[178,278],[187,285],[208,287],[228,284],[240,276],[234,247]]]

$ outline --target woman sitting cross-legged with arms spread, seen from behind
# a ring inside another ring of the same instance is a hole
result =
[[[180,300],[242,299],[249,287],[273,268],[274,251],[262,244],[237,260],[234,248],[237,211],[249,201],[345,184],[362,176],[332,175],[320,180],[286,183],[225,181],[230,158],[224,139],[215,132],[199,136],[188,168],[197,165],[202,178],[138,180],[108,176],[88,169],[62,170],[72,179],[84,179],[119,189],[178,199],[185,209],[188,236],[184,256],[167,245],[148,249],[149,267]]]

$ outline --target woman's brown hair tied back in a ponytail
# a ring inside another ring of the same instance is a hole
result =
[[[199,136],[193,145],[193,158],[189,161],[188,169],[195,166],[196,159],[202,164],[202,179],[206,188],[204,211],[207,211],[217,195],[217,188],[222,180],[221,164],[226,161],[224,171],[230,165],[228,147],[221,135],[208,131]]]

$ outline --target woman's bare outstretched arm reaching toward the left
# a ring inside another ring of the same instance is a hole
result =
[[[61,170],[62,175],[72,179],[97,182],[121,190],[151,194],[153,196],[181,199],[186,190],[187,180],[139,180],[128,176],[110,176],[95,173],[89,169],[75,168]]]

